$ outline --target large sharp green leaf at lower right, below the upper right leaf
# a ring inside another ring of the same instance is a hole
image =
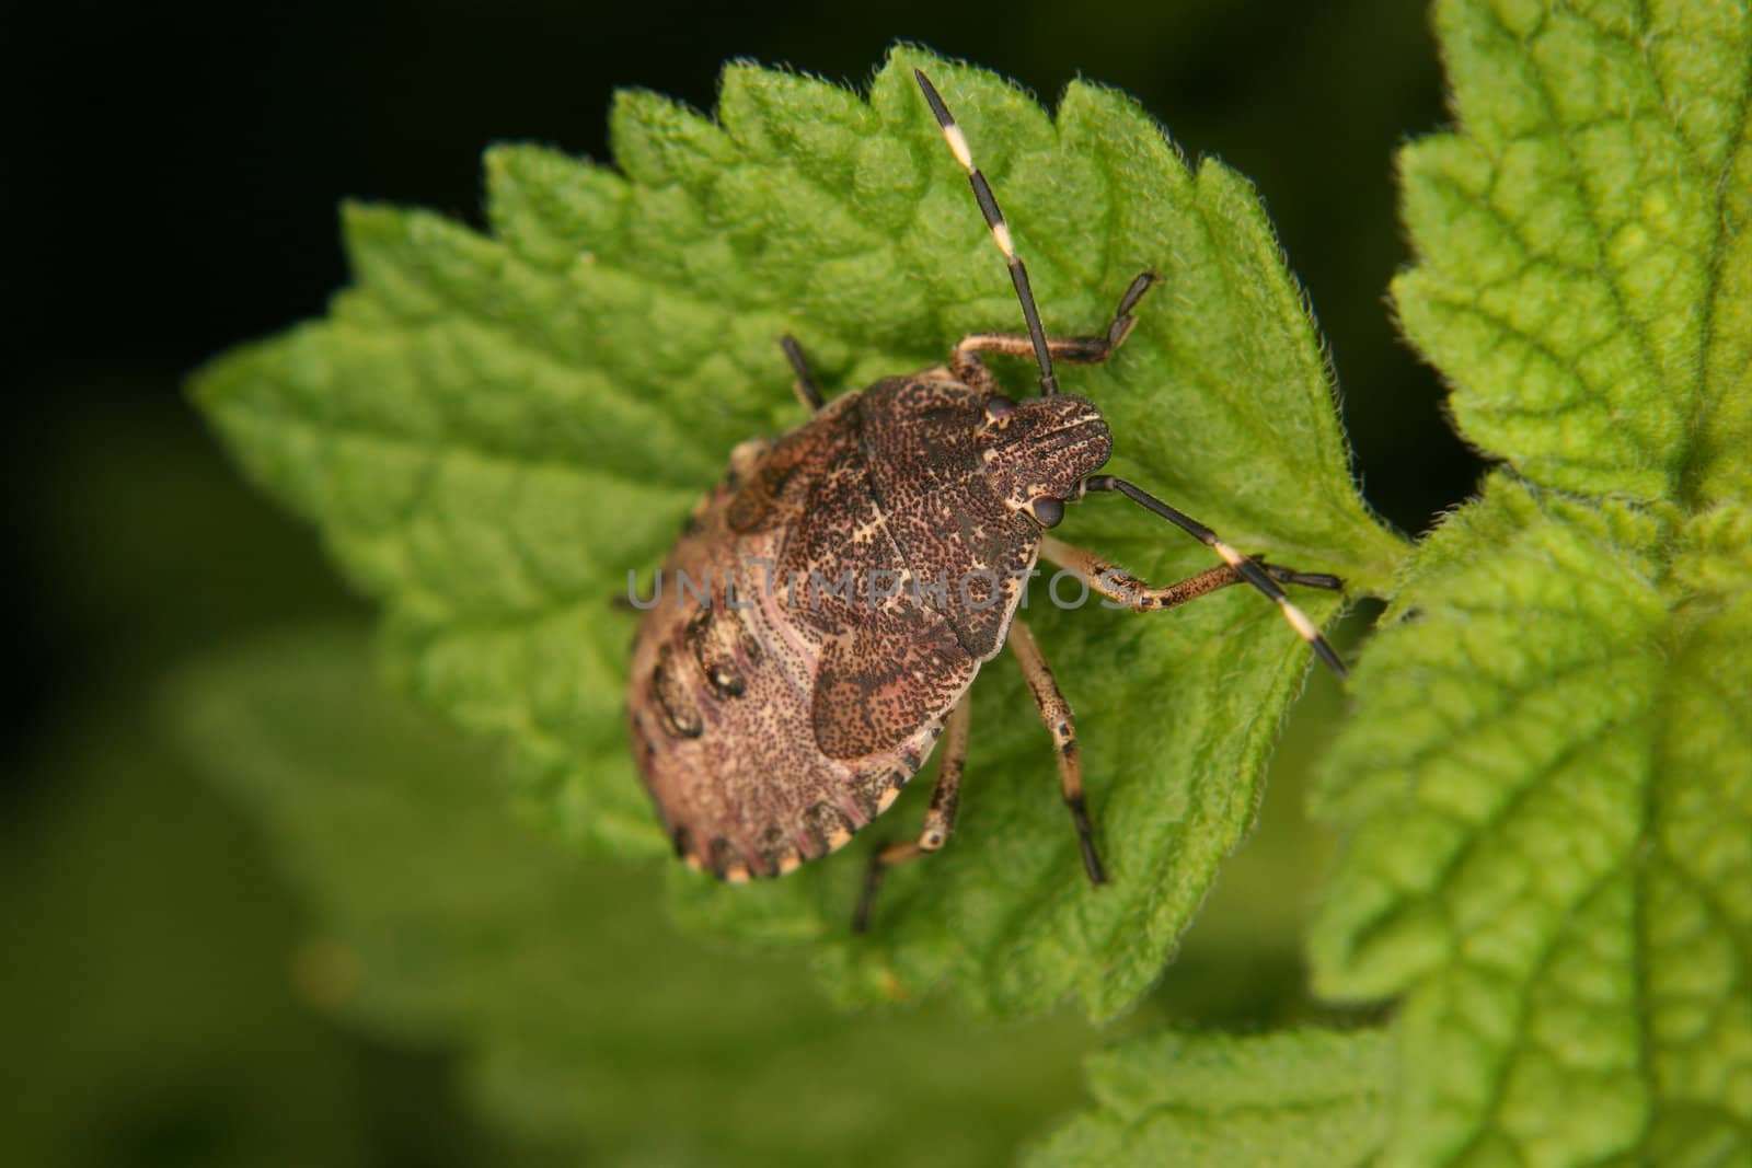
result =
[[[1752,513],[1498,478],[1417,560],[1328,760],[1314,932],[1323,993],[1410,995],[1389,1159],[1743,1157]]]

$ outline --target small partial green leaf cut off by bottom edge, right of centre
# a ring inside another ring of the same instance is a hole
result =
[[[1088,1059],[1095,1108],[1030,1168],[1370,1163],[1386,1135],[1391,1045],[1381,1033],[1153,1035]]]

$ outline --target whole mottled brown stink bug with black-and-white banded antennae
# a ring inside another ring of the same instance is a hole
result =
[[[1046,336],[967,138],[930,81],[915,75],[1009,263],[1027,334],[964,336],[946,366],[827,405],[795,341],[783,338],[815,417],[783,438],[738,447],[724,482],[694,508],[639,625],[627,693],[639,774],[676,853],[729,881],[781,876],[834,851],[946,737],[923,832],[874,853],[857,928],[887,867],[948,841],[967,756],[967,690],[1006,643],[1056,746],[1083,865],[1091,883],[1106,879],[1070,707],[1014,618],[1039,557],[1135,611],[1247,581],[1344,674],[1279,587],[1339,588],[1337,578],[1247,559],[1132,483],[1097,475],[1113,448],[1107,424],[1091,403],[1058,392],[1053,361],[1113,355],[1155,277],[1132,282],[1106,336]],[[1006,398],[985,352],[1032,354],[1041,396]],[[1155,588],[1046,534],[1067,503],[1107,490],[1200,539],[1223,564]]]

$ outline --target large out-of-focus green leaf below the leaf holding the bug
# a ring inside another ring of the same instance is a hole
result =
[[[165,709],[308,902],[319,1007],[457,1047],[485,1114],[589,1163],[1002,1163],[1076,1093],[1076,1019],[846,1019],[780,958],[669,935],[648,867],[517,821],[484,751],[375,685],[359,637],[187,669]]]

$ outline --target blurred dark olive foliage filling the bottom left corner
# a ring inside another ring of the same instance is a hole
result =
[[[5,1163],[506,1163],[434,1051],[294,996],[298,907],[151,720],[91,709],[28,765],[42,802],[0,828]]]

